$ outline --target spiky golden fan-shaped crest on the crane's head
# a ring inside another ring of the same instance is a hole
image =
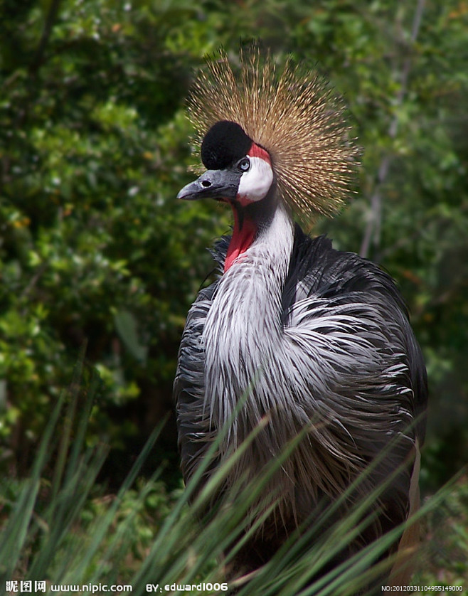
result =
[[[198,147],[216,122],[240,124],[270,153],[280,195],[299,218],[331,215],[349,195],[358,149],[344,102],[290,58],[280,69],[270,53],[250,46],[235,73],[220,50],[193,83],[188,112]]]

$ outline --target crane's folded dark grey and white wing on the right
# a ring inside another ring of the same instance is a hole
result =
[[[394,474],[382,496],[391,528],[408,515],[410,458],[424,437],[427,403],[425,366],[400,293],[377,265],[297,227],[282,302],[286,366],[300,380],[300,407],[327,421],[317,440],[338,459],[364,468],[377,458],[369,486]]]

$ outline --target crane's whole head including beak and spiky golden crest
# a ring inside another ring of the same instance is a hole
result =
[[[270,54],[240,52],[235,74],[223,50],[193,84],[189,117],[206,171],[179,198],[258,203],[272,185],[299,218],[331,215],[349,194],[358,150],[341,98],[321,76]],[[260,203],[258,203],[260,207]]]

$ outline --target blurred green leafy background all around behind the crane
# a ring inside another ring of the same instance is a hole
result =
[[[188,307],[229,230],[176,201],[193,175],[184,102],[203,56],[260,38],[344,95],[364,148],[336,248],[400,284],[430,383],[422,491],[468,461],[468,3],[465,0],[3,0],[0,474],[28,474],[85,347],[87,442],[118,486],[147,462],[180,486],[171,385]],[[241,42],[240,42],[241,41]],[[12,485],[10,485],[12,486]]]

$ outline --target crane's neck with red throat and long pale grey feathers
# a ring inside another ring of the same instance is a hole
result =
[[[245,211],[236,215],[230,260],[203,331],[206,401],[218,425],[228,420],[238,399],[255,385],[282,341],[282,291],[294,225],[280,202],[260,219]],[[268,399],[259,395],[258,388],[253,391],[257,398],[252,403]],[[261,409],[253,418],[260,418],[268,404]]]

